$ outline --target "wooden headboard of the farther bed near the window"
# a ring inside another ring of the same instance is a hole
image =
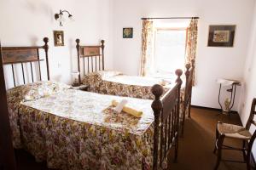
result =
[[[80,46],[80,40],[76,39],[78,52],[79,84],[81,83],[80,59],[83,59],[83,75],[94,71],[104,71],[104,40],[101,45]],[[85,59],[87,58],[87,59]],[[87,61],[86,61],[87,60]],[[102,61],[102,62],[101,62]],[[87,62],[87,65],[85,65]],[[87,68],[86,68],[87,67]]]

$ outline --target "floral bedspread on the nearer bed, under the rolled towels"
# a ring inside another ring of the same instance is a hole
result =
[[[26,94],[29,88],[23,87],[22,91]],[[21,132],[17,136],[13,133],[14,139],[20,138],[20,146],[37,161],[47,161],[49,168],[150,169],[152,100],[125,98],[129,106],[143,111],[138,119],[123,112],[114,114],[112,99],[122,98],[67,89],[37,99],[23,99],[14,108],[15,105],[9,105],[13,110],[12,129]]]

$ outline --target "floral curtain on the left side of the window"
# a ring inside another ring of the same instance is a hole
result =
[[[140,75],[145,77],[150,69],[153,54],[154,26],[152,20],[143,20],[142,58]]]

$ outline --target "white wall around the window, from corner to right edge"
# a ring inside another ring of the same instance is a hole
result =
[[[218,108],[218,77],[243,77],[253,0],[113,0],[113,67],[138,75],[142,17],[200,16],[196,59],[197,85],[192,105]],[[209,25],[236,25],[234,48],[207,47]],[[133,39],[122,38],[123,27],[134,28]],[[235,110],[238,107],[239,91]]]

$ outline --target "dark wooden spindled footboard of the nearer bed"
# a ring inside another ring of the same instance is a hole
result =
[[[183,71],[177,70],[177,81],[163,97],[162,86],[156,84],[151,89],[154,101],[151,105],[154,111],[154,165],[153,169],[166,168],[170,150],[175,147],[175,161],[177,160],[178,129],[179,129],[179,104],[181,75]]]

